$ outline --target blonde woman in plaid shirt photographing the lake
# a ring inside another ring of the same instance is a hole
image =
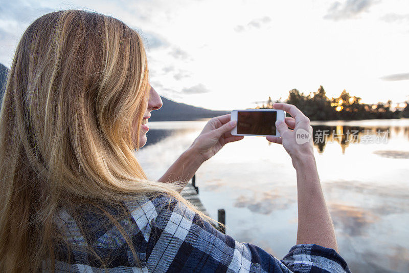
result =
[[[17,46],[0,113],[0,271],[344,272],[316,173],[311,130],[288,104],[278,124],[297,170],[298,245],[283,259],[239,243],[179,195],[232,136],[211,119],[160,181],[134,150],[162,106],[140,35],[120,20],[67,10],[41,16]]]

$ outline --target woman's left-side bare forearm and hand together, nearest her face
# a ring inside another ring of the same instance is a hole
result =
[[[227,114],[210,119],[189,149],[158,181],[169,183],[179,180],[187,183],[200,165],[220,151],[226,143],[243,139],[243,136],[232,136],[230,133],[236,126],[236,121],[230,122],[230,116],[231,114]]]

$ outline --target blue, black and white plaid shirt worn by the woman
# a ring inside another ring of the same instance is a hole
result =
[[[85,213],[81,221],[90,230],[85,235],[65,210],[56,223],[71,243],[91,247],[99,257],[109,256],[107,272],[350,272],[334,249],[315,244],[295,245],[279,260],[256,245],[220,233],[186,205],[165,196],[144,197],[126,208],[132,216],[130,225],[129,219],[119,223],[132,239],[141,267],[117,227],[99,228],[107,219]],[[62,257],[64,251],[60,249]],[[71,261],[56,261],[57,272],[106,272],[85,251],[70,253]]]

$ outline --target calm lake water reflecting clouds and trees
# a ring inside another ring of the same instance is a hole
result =
[[[148,143],[137,157],[149,178],[158,179],[206,121],[149,124]],[[409,119],[312,125],[340,254],[353,272],[407,272]],[[251,136],[228,143],[199,168],[196,181],[214,219],[225,209],[226,233],[235,240],[279,259],[296,243],[296,172],[281,145]]]

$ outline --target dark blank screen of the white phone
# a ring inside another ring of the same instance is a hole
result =
[[[276,135],[277,112],[237,112],[237,134]]]

